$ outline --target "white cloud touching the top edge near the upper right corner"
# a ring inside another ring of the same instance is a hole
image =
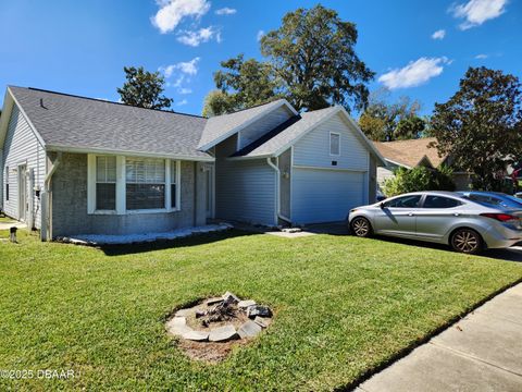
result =
[[[508,0],[470,0],[465,4],[452,5],[449,11],[455,17],[464,19],[459,28],[468,29],[500,16],[506,12],[507,3]]]

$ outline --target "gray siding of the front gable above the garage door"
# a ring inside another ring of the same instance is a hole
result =
[[[340,134],[340,156],[330,155],[331,132]],[[337,166],[333,167],[332,161],[337,161]],[[351,125],[337,114],[295,144],[294,164],[366,171],[369,151],[352,132]]]

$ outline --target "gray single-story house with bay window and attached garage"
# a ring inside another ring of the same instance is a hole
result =
[[[0,207],[42,240],[338,221],[375,199],[385,164],[341,107],[206,119],[13,86],[0,154]]]

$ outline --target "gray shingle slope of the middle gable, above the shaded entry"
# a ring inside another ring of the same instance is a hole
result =
[[[209,149],[217,143],[232,136],[238,127],[244,126],[252,120],[276,109],[283,105],[288,105],[285,99],[278,99],[265,105],[260,105],[250,109],[240,110],[231,114],[223,114],[210,118],[204,126],[198,148]],[[288,105],[289,108],[291,108]]]

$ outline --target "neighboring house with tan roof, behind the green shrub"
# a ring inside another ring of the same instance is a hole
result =
[[[412,169],[423,166],[437,169],[443,164],[451,167],[451,157],[439,157],[435,147],[428,147],[432,142],[436,142],[435,137],[375,142],[375,147],[386,160],[386,167],[377,168],[378,186],[383,187],[386,180],[394,177],[398,168]],[[467,172],[453,169],[452,180],[457,191],[469,189],[471,177]]]

